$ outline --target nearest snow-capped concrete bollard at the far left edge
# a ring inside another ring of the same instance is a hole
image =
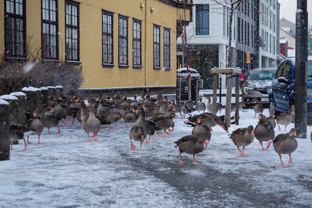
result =
[[[10,111],[9,103],[0,99],[0,161],[10,159]]]

